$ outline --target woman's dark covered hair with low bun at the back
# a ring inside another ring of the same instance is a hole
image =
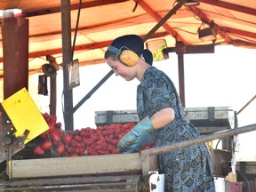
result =
[[[128,48],[132,52],[135,52],[139,57],[143,58],[149,65],[153,63],[153,55],[148,49],[144,49],[144,41],[137,35],[125,35],[117,37],[111,46],[116,49],[122,49],[123,47]],[[109,46],[108,46],[109,48]],[[104,59],[112,58],[116,60],[116,53],[111,52],[109,49],[105,52]]]

